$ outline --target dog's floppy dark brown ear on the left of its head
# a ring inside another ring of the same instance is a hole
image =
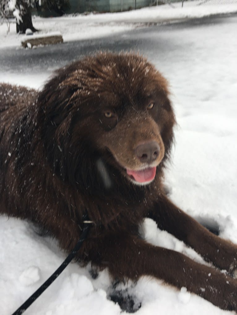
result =
[[[75,106],[72,95],[78,87],[64,82],[64,75],[53,77],[39,93],[37,125],[48,162],[55,173],[66,178],[70,126]]]

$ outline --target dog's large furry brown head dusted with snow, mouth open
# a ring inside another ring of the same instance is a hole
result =
[[[38,101],[55,169],[80,180],[80,165],[96,167],[106,182],[109,165],[135,184],[150,183],[172,145],[168,94],[166,79],[136,54],[101,53],[60,69]]]

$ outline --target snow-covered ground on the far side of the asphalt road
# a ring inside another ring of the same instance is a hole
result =
[[[158,7],[106,14],[79,14],[58,18],[33,17],[33,25],[41,32],[60,31],[64,41],[102,37],[112,33],[123,32],[145,23],[159,23],[187,18],[200,18],[212,14],[237,12],[237,0],[194,0]],[[6,24],[0,25],[0,48],[20,47],[22,35],[15,33],[15,21],[10,21],[10,32]]]

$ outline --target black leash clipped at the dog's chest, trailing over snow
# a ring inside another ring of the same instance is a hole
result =
[[[78,250],[81,248],[82,243],[87,237],[89,226],[92,221],[88,221],[87,215],[83,215],[83,229],[79,241],[76,243],[74,249],[70,252],[64,262],[58,267],[58,269],[50,276],[40,287],[37,289],[12,315],[21,315],[25,310],[52,284],[52,282],[60,275],[60,273],[66,268],[70,261],[75,257]]]

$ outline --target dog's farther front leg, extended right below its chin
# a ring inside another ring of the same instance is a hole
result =
[[[165,195],[147,214],[158,227],[173,234],[197,251],[206,261],[234,272],[237,268],[237,246],[224,240],[176,207]]]

